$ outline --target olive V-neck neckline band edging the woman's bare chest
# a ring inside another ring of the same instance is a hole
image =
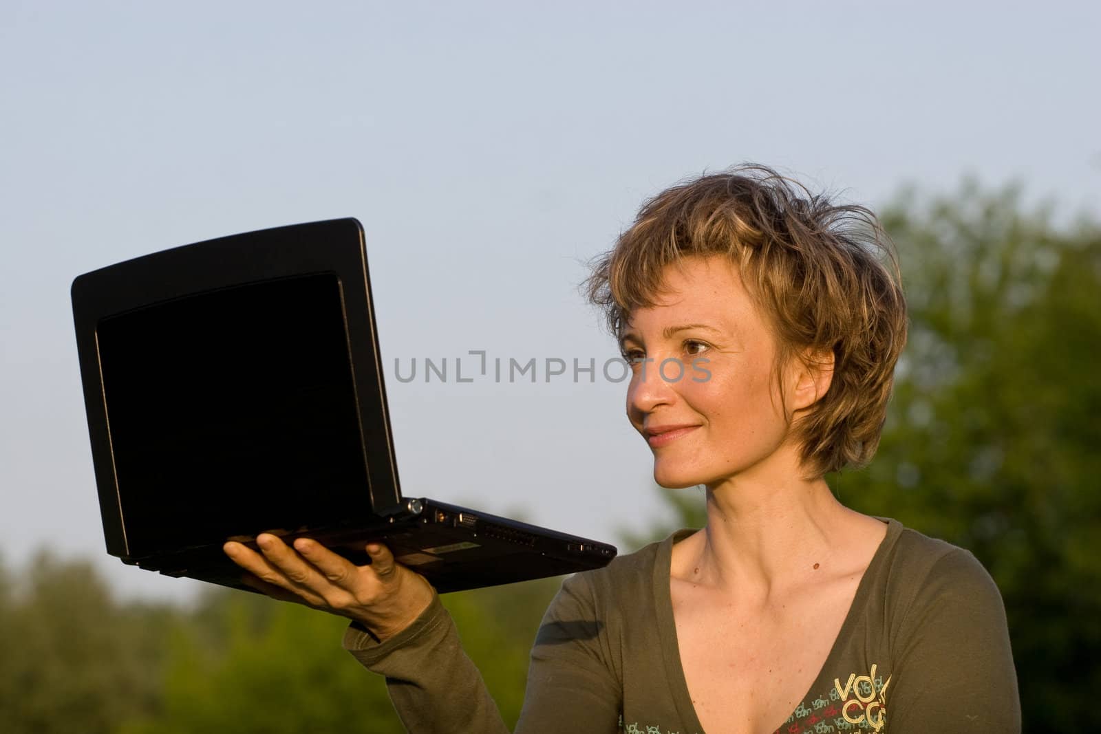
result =
[[[873,517],[875,516],[873,515]],[[866,605],[868,588],[871,583],[870,579],[874,578],[879,565],[883,562],[887,550],[894,545],[895,539],[902,533],[902,523],[898,521],[892,517],[875,517],[875,519],[886,524],[886,535],[883,536],[883,540],[880,541],[879,547],[876,547],[875,552],[872,555],[872,559],[868,562],[868,568],[864,569],[863,576],[860,577],[860,582],[857,584],[857,592],[852,596],[852,603],[849,604],[844,622],[841,623],[841,629],[837,633],[837,637],[833,638],[833,644],[826,659],[822,661],[818,675],[810,681],[810,688],[796,702],[796,709],[808,697],[815,694],[815,691],[819,688],[818,680],[822,677],[822,672],[829,670],[836,664],[836,658],[841,654],[844,643],[852,636],[852,628],[859,622],[859,613],[857,611],[863,610]],[[672,581],[669,574],[673,568],[673,546],[697,532],[687,529],[677,530],[663,540],[658,547],[656,562],[654,563],[654,607],[657,617],[658,636],[662,640],[662,654],[665,657],[665,669],[669,671],[669,686],[673,689],[677,713],[680,715],[682,721],[690,722],[698,734],[705,734],[704,725],[699,723],[699,715],[696,713],[696,706],[693,705],[691,694],[688,692],[688,679],[685,677],[684,666],[680,662],[680,645],[677,640],[676,620],[673,616],[673,592],[669,588]],[[788,717],[791,715],[788,714]],[[786,721],[787,717],[782,722],[777,722],[777,726],[783,725]]]

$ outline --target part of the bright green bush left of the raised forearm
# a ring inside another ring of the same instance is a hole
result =
[[[218,590],[166,639],[163,702],[120,734],[404,731],[381,677],[340,646],[347,621]]]

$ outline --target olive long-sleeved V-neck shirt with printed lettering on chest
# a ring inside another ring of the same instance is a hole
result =
[[[990,574],[969,551],[880,519],[886,537],[833,647],[775,732],[1020,732],[1005,610]],[[669,596],[673,545],[693,532],[566,579],[532,648],[516,732],[702,734]],[[408,731],[508,731],[438,598],[382,644],[353,624],[344,645],[386,676]]]

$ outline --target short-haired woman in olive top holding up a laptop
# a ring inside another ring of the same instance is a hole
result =
[[[875,451],[905,302],[874,216],[761,166],[648,201],[596,265],[628,417],[707,524],[567,579],[520,732],[1018,731],[1005,613],[960,548],[848,510],[824,474]],[[368,546],[226,552],[277,599],[351,617],[413,732],[503,732],[428,583]],[[251,578],[251,577],[250,577]]]

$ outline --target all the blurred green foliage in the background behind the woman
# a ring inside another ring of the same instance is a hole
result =
[[[1025,731],[1091,720],[1101,684],[1101,230],[1056,227],[1016,189],[909,194],[883,215],[911,308],[879,453],[830,476],[861,512],[971,549],[1005,600]],[[702,493],[624,551],[702,525]],[[509,724],[559,580],[444,598]],[[0,731],[401,732],[346,621],[215,589],[193,609],[121,603],[87,562],[0,563]]]

